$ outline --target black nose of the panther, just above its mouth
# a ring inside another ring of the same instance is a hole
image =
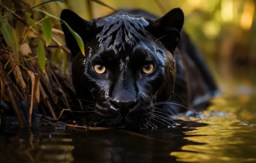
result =
[[[118,100],[111,100],[110,101],[116,109],[120,110],[120,113],[123,115],[127,115],[130,109],[132,109],[136,104],[137,101],[118,101]]]

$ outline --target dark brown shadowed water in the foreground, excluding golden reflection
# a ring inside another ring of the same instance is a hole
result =
[[[0,162],[175,162],[176,158],[170,156],[172,151],[181,151],[185,145],[202,144],[183,139],[186,136],[184,133],[206,125],[186,121],[180,123],[176,128],[136,133],[114,129],[78,132],[6,127],[0,131]]]

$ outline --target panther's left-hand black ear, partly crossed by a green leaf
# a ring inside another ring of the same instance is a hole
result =
[[[72,28],[72,30],[79,34],[79,36],[81,36],[83,40],[85,38],[88,39],[88,31],[94,26],[93,21],[87,21],[81,18],[70,9],[63,9],[60,18],[61,20],[66,21],[67,24]],[[76,39],[62,21],[61,28],[64,32],[66,45],[70,49],[72,55],[75,56],[80,51]]]

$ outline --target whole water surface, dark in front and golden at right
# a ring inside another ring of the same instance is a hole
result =
[[[223,95],[199,113],[203,123],[180,116],[177,127],[137,133],[2,128],[0,163],[255,163],[255,73],[218,73]]]

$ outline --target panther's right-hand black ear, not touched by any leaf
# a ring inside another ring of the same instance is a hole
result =
[[[147,30],[173,52],[180,42],[184,14],[180,8],[171,9],[161,18],[149,21]]]

